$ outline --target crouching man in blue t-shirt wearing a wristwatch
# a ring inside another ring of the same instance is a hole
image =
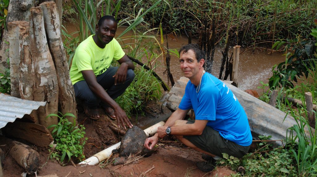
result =
[[[197,167],[208,172],[214,168],[214,158],[222,157],[222,153],[238,158],[247,154],[252,136],[247,115],[235,95],[226,84],[205,72],[204,56],[196,44],[179,50],[180,68],[190,81],[178,109],[153,137],[146,139],[144,146],[151,150],[159,138],[174,135],[205,154],[207,162],[197,162]],[[183,120],[190,109],[196,119]]]

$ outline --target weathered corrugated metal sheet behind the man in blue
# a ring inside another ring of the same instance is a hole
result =
[[[165,106],[173,110],[177,109],[185,93],[185,87],[188,81],[188,78],[181,77],[175,83],[166,96]],[[230,88],[244,108],[252,132],[258,135],[271,135],[271,140],[285,140],[286,132],[289,131],[288,128],[296,124],[293,117],[289,115],[286,116],[286,113],[281,110],[236,88],[230,84],[230,81],[223,82]],[[305,126],[305,131],[308,132],[307,126]],[[276,143],[277,145],[282,145],[281,141],[277,141]]]

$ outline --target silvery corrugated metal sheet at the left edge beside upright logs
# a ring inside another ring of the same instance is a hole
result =
[[[14,122],[16,118],[22,118],[24,114],[30,114],[46,104],[42,101],[29,101],[0,93],[0,128],[8,122]]]

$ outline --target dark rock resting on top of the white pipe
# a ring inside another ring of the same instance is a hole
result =
[[[120,157],[131,155],[151,155],[154,151],[143,147],[147,136],[145,132],[137,126],[133,126],[122,137],[120,145]]]

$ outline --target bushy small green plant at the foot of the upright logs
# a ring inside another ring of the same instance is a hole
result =
[[[57,125],[50,125],[48,128],[54,128],[52,131],[52,136],[55,143],[55,151],[51,153],[51,158],[56,159],[61,164],[68,156],[68,162],[72,157],[76,157],[78,160],[83,160],[84,155],[84,145],[87,138],[84,138],[85,127],[83,125],[76,125],[75,119],[74,124],[66,119],[66,116],[75,117],[72,113],[66,113],[62,115],[60,112],[58,114],[49,114],[47,116],[58,117],[59,122]]]

